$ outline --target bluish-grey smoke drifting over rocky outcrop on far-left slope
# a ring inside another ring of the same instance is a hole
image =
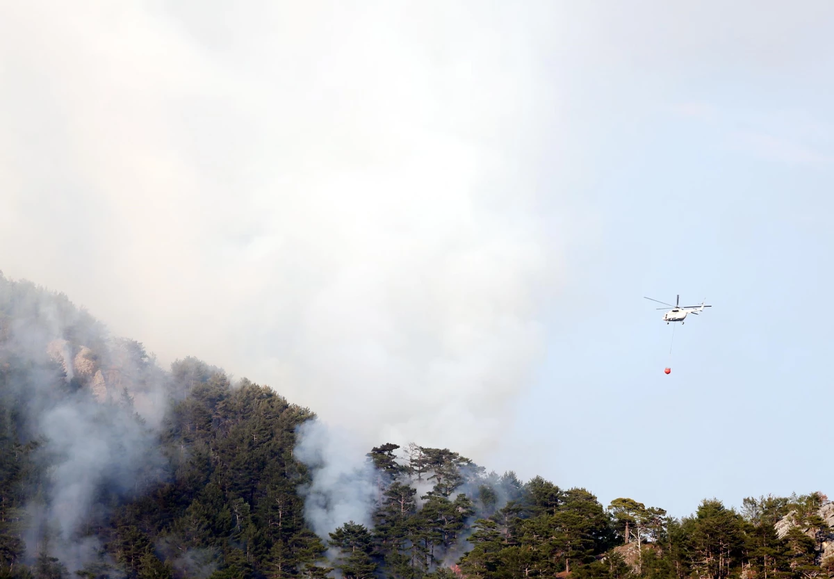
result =
[[[154,430],[167,401],[163,377],[140,345],[113,340],[33,284],[0,275],[0,312],[8,372],[0,394],[25,412],[20,436],[41,444],[45,492],[27,508],[28,556],[48,551],[75,571],[98,557],[93,535],[108,497],[135,496],[165,476]]]

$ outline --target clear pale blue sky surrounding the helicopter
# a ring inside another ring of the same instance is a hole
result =
[[[601,71],[620,82],[576,122],[603,239],[571,260],[580,303],[554,295],[570,306],[518,410],[533,470],[676,516],[830,492],[831,50],[806,57]],[[672,326],[642,296],[678,294],[714,307],[677,327],[665,375]]]

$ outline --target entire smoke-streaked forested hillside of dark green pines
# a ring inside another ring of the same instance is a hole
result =
[[[321,531],[310,501],[329,504],[298,452],[311,420],[201,360],[163,370],[0,274],[0,577],[834,576],[821,492],[676,519],[414,443],[368,449],[367,520]]]

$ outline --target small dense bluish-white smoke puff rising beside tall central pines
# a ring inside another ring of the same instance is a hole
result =
[[[299,489],[304,517],[325,544],[329,533],[348,521],[373,527],[374,466],[355,436],[319,420],[297,429],[293,455],[310,471],[312,482]]]

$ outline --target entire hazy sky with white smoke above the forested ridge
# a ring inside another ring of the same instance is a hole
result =
[[[834,4],[0,9],[8,276],[368,444],[834,493]]]

